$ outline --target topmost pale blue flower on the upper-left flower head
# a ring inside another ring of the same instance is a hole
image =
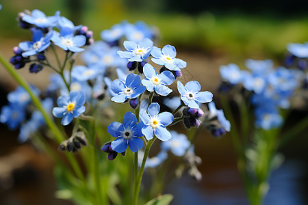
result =
[[[53,27],[57,23],[57,16],[46,16],[40,10],[33,10],[31,12],[31,16],[23,13],[23,21],[36,25],[37,27],[45,28],[45,27]]]

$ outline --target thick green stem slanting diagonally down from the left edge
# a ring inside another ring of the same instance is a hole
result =
[[[42,113],[44,120],[47,126],[49,126],[51,132],[53,133],[53,136],[55,137],[57,143],[61,143],[62,141],[64,141],[65,139],[64,136],[62,135],[60,129],[57,128],[57,126],[55,125],[55,122],[51,120],[51,116],[45,111],[44,107],[42,106],[42,102],[40,101],[40,98],[38,98],[38,96],[34,94],[27,81],[25,81],[25,79],[23,79],[23,77],[20,74],[18,74],[18,72],[16,72],[16,70],[10,65],[10,63],[8,63],[8,61],[6,61],[6,59],[3,57],[1,53],[0,53],[0,62],[4,66],[4,68],[8,70],[8,72],[12,75],[12,77],[17,81],[17,83],[21,85],[29,93],[32,102],[34,102],[34,105],[36,105],[38,110]],[[75,174],[81,180],[84,179],[84,174],[82,174],[76,159],[72,155],[67,153],[66,157],[68,158],[68,161],[70,161],[70,164],[72,165]]]

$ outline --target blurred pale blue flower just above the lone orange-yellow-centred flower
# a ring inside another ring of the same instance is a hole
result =
[[[97,78],[100,70],[96,66],[87,68],[86,66],[74,66],[71,72],[73,78],[77,81],[88,81]]]

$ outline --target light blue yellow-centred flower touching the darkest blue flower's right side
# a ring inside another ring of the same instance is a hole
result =
[[[147,140],[152,139],[153,135],[162,141],[171,139],[171,134],[166,126],[172,123],[174,117],[169,112],[159,113],[159,110],[158,103],[154,102],[149,106],[147,113],[145,110],[140,111],[141,120],[145,125],[142,128],[142,133]]]

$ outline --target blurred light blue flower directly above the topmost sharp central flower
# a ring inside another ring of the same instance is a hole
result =
[[[125,37],[127,40],[133,42],[140,42],[144,38],[153,39],[154,33],[151,27],[146,25],[143,21],[138,21],[135,24],[126,25],[125,29]]]

